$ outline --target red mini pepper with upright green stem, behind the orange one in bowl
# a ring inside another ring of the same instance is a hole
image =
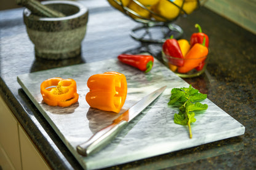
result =
[[[201,29],[201,26],[196,24],[194,25],[194,27],[198,28],[198,33],[193,33],[190,37],[190,48],[193,47],[194,44],[202,44],[202,42],[204,41],[204,37],[206,38],[206,44],[205,46],[208,48],[208,45],[209,45],[209,37],[202,33],[202,29]]]

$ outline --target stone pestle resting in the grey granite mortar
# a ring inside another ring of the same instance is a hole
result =
[[[57,18],[57,17],[65,17],[62,12],[58,12],[57,10],[50,9],[47,6],[44,6],[39,1],[36,0],[16,0],[16,3],[20,6],[25,6],[30,9],[30,11],[34,15],[39,15],[40,17],[49,17],[49,18]]]

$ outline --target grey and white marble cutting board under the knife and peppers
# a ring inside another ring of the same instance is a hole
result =
[[[86,82],[90,75],[106,71],[121,72],[127,78],[127,98],[119,114],[129,109],[151,91],[164,85],[167,85],[167,88],[105,149],[84,157],[76,152],[76,146],[87,141],[99,129],[110,125],[119,115],[92,109],[85,99],[86,93],[89,91]],[[65,108],[44,104],[40,93],[40,84],[51,77],[76,80],[79,101]],[[208,104],[208,109],[195,116],[196,122],[191,125],[193,139],[190,139],[188,128],[174,123],[174,114],[178,113],[178,110],[167,105],[172,88],[188,87],[189,85],[158,60],[154,61],[153,69],[148,74],[122,64],[117,59],[111,59],[18,75],[17,80],[26,95],[85,169],[106,168],[188,149],[239,136],[245,131],[241,123],[216,106],[214,102],[206,99],[202,103]]]

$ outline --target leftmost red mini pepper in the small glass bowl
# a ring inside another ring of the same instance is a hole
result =
[[[182,50],[180,50],[180,45],[178,45],[178,41],[173,39],[173,36],[170,36],[170,39],[167,39],[164,44],[162,45],[162,50],[166,55],[175,57],[175,58],[184,58],[182,55]],[[173,58],[168,58],[170,64],[175,66],[183,66],[183,60],[175,60]]]

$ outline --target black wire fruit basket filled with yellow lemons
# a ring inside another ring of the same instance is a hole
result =
[[[180,15],[189,15],[198,9],[201,0],[108,0],[132,20],[142,23],[133,28],[130,36],[137,41],[163,43],[171,35],[178,39],[183,29],[173,22]]]

